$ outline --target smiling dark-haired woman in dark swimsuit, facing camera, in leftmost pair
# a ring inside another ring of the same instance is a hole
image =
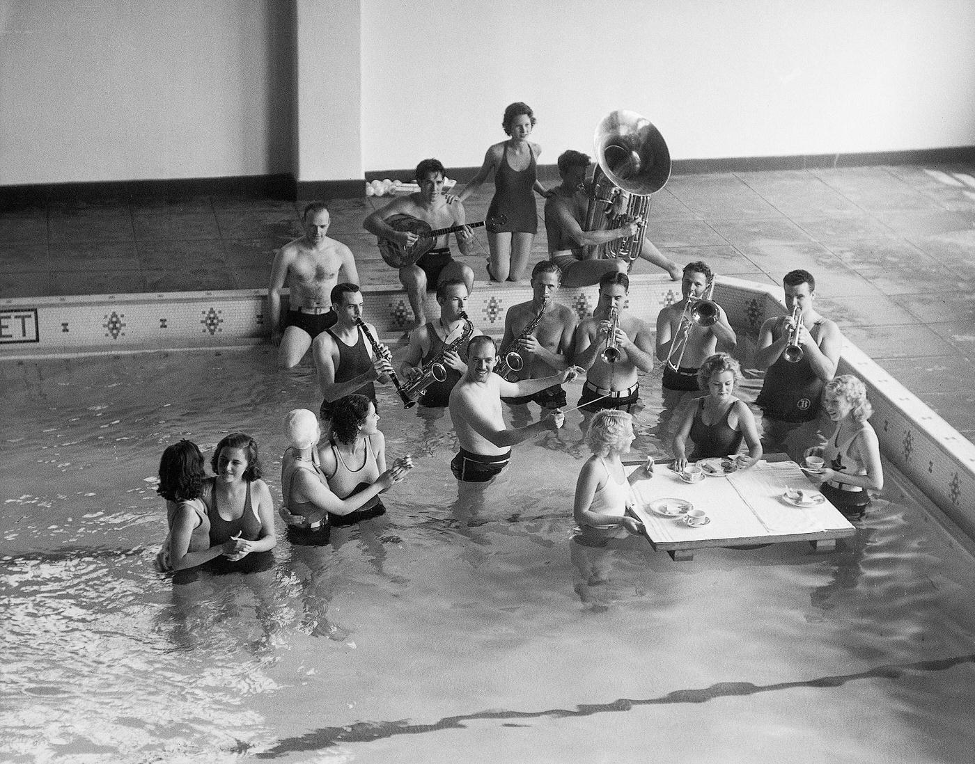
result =
[[[267,483],[260,479],[257,443],[244,433],[231,433],[216,444],[211,467],[213,502],[210,543],[232,543],[227,559],[236,562],[254,552],[274,549],[274,507]]]

